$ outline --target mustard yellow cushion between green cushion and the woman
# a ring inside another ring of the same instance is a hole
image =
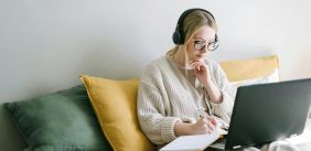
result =
[[[115,151],[156,150],[138,125],[138,79],[114,80],[86,75],[82,75],[81,79],[101,130]]]

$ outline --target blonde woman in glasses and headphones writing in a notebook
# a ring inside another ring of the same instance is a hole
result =
[[[179,136],[212,133],[229,122],[235,88],[221,66],[206,58],[218,46],[216,32],[212,13],[186,10],[173,34],[175,47],[144,69],[138,119],[153,143],[163,145]]]

